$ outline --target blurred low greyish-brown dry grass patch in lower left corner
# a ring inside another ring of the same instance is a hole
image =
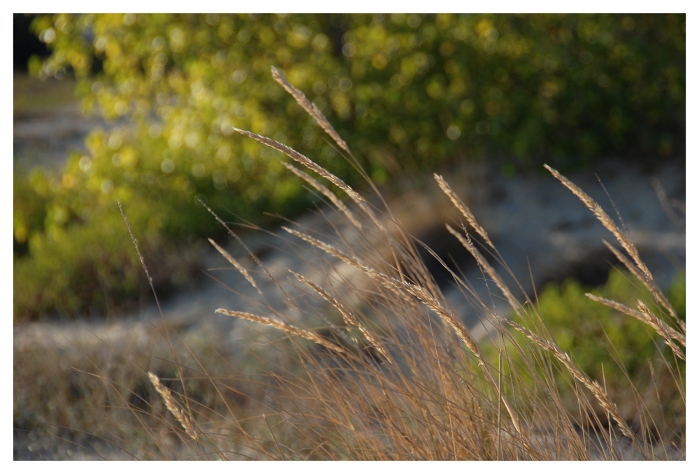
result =
[[[175,336],[175,330],[182,336]],[[164,337],[167,331],[170,344]],[[187,393],[190,405],[206,407],[210,414],[227,407],[237,416],[245,411],[247,402],[236,392],[217,393],[206,377],[207,371],[228,373],[222,378],[228,387],[251,386],[243,374],[231,371],[231,356],[215,331],[194,333],[171,324],[132,322],[91,331],[78,324],[45,324],[35,326],[34,332],[15,340],[13,353],[15,436],[31,433],[34,438],[22,458],[71,456],[57,451],[57,445],[92,459],[193,455],[182,449],[181,438],[189,436],[168,412],[166,400],[150,388],[148,372],[159,374],[161,388],[173,394],[171,402],[177,400],[175,407],[183,398],[174,394]],[[182,366],[198,368],[187,370],[185,385],[172,363],[173,352],[180,355]],[[42,445],[43,454],[38,452]]]

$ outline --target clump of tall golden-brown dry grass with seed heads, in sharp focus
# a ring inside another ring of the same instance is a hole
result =
[[[345,142],[317,108],[275,69],[273,76],[349,154]],[[280,340],[272,343],[272,347],[286,354],[287,362],[270,367],[279,390],[268,393],[268,405],[259,413],[264,421],[260,426],[265,431],[261,436],[259,431],[252,435],[234,429],[231,424],[236,421],[230,417],[202,418],[196,410],[188,415],[192,423],[200,424],[197,430],[202,433],[206,432],[206,426],[217,427],[214,430],[216,442],[208,445],[217,456],[225,457],[228,443],[236,440],[250,447],[257,459],[684,457],[684,423],[651,419],[649,414],[657,410],[654,411],[644,398],[635,406],[641,412],[642,423],[630,426],[617,405],[629,402],[612,400],[605,388],[606,382],[589,378],[559,348],[555,335],[545,329],[541,317],[535,312],[532,317],[531,310],[523,310],[503,278],[477,249],[466,227],[456,231],[447,224],[449,232],[473,254],[486,278],[494,282],[515,315],[513,321],[503,319],[486,303],[475,301],[475,293],[452,273],[464,297],[480,307],[482,317],[489,319],[495,328],[493,340],[499,341],[502,347],[497,361],[483,356],[480,345],[488,342],[475,340],[456,316],[419,257],[419,244],[400,231],[400,223],[392,221],[389,209],[372,209],[369,201],[345,182],[296,150],[270,138],[236,130],[280,150],[329,180],[354,201],[361,218],[355,217],[315,178],[287,166],[326,196],[348,225],[338,229],[336,236],[313,236],[308,229],[284,227],[291,236],[308,243],[310,251],[326,254],[326,264],[315,268],[315,278],[291,272],[296,281],[310,287],[312,293],[304,287],[296,287],[298,292],[289,296],[288,313],[271,306],[267,310],[273,317],[219,310],[219,313],[298,336],[312,345],[293,338],[283,344]],[[684,360],[685,354],[679,347],[682,345],[686,349],[684,323],[656,285],[633,242],[581,189],[556,170],[548,166],[547,169],[576,194],[621,243],[630,260],[618,250],[614,249],[614,254],[655,296],[657,315],[643,303],[639,304],[639,310],[598,299],[600,303],[648,324],[672,347],[674,356]],[[470,227],[492,252],[496,252],[487,232],[446,180],[439,175],[435,175],[435,180]],[[398,232],[390,233],[387,228],[398,229]],[[354,238],[349,238],[347,233]],[[390,252],[377,254],[373,246],[377,241],[387,245]],[[363,274],[361,283],[338,273],[338,260]],[[261,262],[258,264],[266,278],[287,281],[288,277],[272,275]],[[312,280],[324,284],[318,285]],[[297,301],[301,300],[315,302],[304,308],[314,308],[312,310],[326,322],[322,331],[299,329],[284,321],[294,320],[294,310],[301,310]],[[532,301],[527,303],[535,308]],[[514,341],[507,326],[524,333],[528,345],[504,344],[506,340]],[[519,352],[526,367],[521,373],[511,373],[508,380],[503,377],[503,359],[509,360],[512,353],[508,351],[513,350]],[[551,359],[544,354],[552,354],[557,364],[547,362]],[[664,368],[675,380],[679,396],[684,400],[684,380],[675,361],[665,359]],[[570,394],[562,394],[556,387],[554,373],[568,374]],[[655,381],[656,373],[653,374]],[[533,385],[526,377],[534,378]],[[668,375],[664,377],[666,380]],[[592,398],[586,394],[591,394]],[[659,396],[657,403],[662,403]],[[606,420],[596,415],[600,409]]]

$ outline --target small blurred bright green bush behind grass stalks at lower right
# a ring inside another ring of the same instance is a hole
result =
[[[551,333],[563,352],[566,352],[593,380],[605,384],[607,391],[616,399],[624,396],[633,396],[633,387],[647,387],[651,378],[649,363],[654,366],[658,391],[667,410],[678,409],[684,416],[684,403],[675,399],[677,390],[673,389],[675,382],[670,378],[665,361],[670,361],[670,366],[679,366],[682,374],[682,383],[686,374],[684,361],[677,359],[664,339],[650,326],[633,317],[619,313],[619,311],[592,301],[585,293],[601,296],[605,299],[617,301],[628,308],[637,308],[637,301],[643,301],[654,314],[665,320],[670,326],[677,327],[674,320],[665,310],[660,310],[653,296],[649,294],[642,284],[635,280],[633,275],[626,271],[612,269],[609,279],[604,285],[596,288],[585,288],[576,280],[565,280],[562,283],[550,283],[538,294],[538,313],[546,324],[546,329],[537,329],[535,333]],[[668,301],[677,311],[679,319],[686,320],[686,275],[680,271],[665,292]],[[531,313],[531,311],[530,311]],[[533,320],[538,317],[533,315]],[[522,323],[519,318],[514,320]],[[531,323],[525,324],[530,326]],[[538,324],[540,326],[540,324]],[[510,329],[512,339],[508,358],[503,361],[506,378],[509,378],[511,368],[516,367],[519,375],[530,373],[530,368],[524,362],[521,353],[514,350],[512,343],[519,347],[531,347],[526,336],[514,329]],[[494,366],[498,364],[498,348],[495,345],[487,346],[485,351]],[[541,357],[528,354],[528,357]],[[543,354],[547,363],[537,364],[540,375],[547,371],[547,367],[559,365],[551,354]],[[537,360],[537,359],[532,359]],[[552,371],[559,392],[570,392],[566,387],[570,386],[570,375],[565,368],[562,371]],[[533,387],[533,385],[532,385]],[[648,396],[648,394],[642,394]],[[655,399],[656,393],[651,394]],[[672,398],[675,397],[675,398]],[[671,399],[672,398],[672,399]],[[572,398],[570,403],[577,403]],[[575,410],[574,410],[575,411]],[[665,413],[667,414],[667,413]],[[675,413],[678,415],[678,413]]]

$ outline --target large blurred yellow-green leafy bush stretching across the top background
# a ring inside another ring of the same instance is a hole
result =
[[[73,73],[85,111],[115,127],[94,131],[87,154],[69,157],[50,185],[15,187],[15,214],[45,201],[43,214],[15,216],[16,246],[27,250],[15,285],[25,265],[44,266],[39,249],[57,245],[59,229],[74,227],[80,248],[101,243],[132,261],[117,244],[124,226],[106,217],[116,198],[143,214],[137,234],[151,246],[219,231],[195,196],[259,223],[263,210],[288,215],[308,203],[280,155],[233,126],[356,182],[270,66],[319,106],[378,182],[463,157],[505,157],[503,171],[546,159],[565,171],[596,157],[675,155],[685,28],[684,15],[38,15],[32,29],[52,55],[32,58],[30,72]],[[25,198],[34,204],[17,205]],[[92,258],[60,252],[68,266]],[[46,278],[15,289],[15,315],[40,311],[31,301],[59,277]],[[59,287],[77,284],[60,278]],[[66,304],[41,311],[86,307]]]

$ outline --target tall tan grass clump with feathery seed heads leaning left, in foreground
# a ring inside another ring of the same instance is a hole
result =
[[[272,73],[356,164],[322,112],[279,71]],[[336,232],[282,227],[280,238],[298,249],[299,258],[319,262],[308,275],[266,266],[253,252],[255,268],[243,268],[215,244],[261,295],[250,300],[257,311],[217,313],[245,319],[259,331],[262,349],[256,354],[266,355],[259,355],[264,377],[255,382],[255,393],[264,396],[240,419],[233,410],[215,413],[163,389],[151,374],[191,452],[221,459],[684,459],[684,319],[628,235],[554,168],[546,166],[612,233],[615,243],[605,242],[607,247],[647,295],[626,304],[586,295],[647,331],[651,355],[644,384],[603,340],[592,343],[609,350],[605,360],[618,366],[603,366],[601,379],[579,363],[579,351],[572,357],[563,348],[539,301],[508,285],[490,263],[494,259],[507,271],[487,231],[441,175],[434,175],[436,184],[462,217],[445,224],[447,230],[477,261],[491,299],[505,299],[512,312],[498,314],[492,300],[480,299],[470,282],[440,260],[464,304],[480,310],[488,329],[484,338],[476,338],[447,302],[420,257],[421,242],[403,230],[380,196],[367,199],[287,145],[235,130],[291,158],[285,166],[331,201],[332,211],[321,212],[337,214],[328,216]],[[263,279],[272,280],[286,301],[261,291]],[[310,323],[314,317],[317,322]],[[610,373],[617,380],[607,378]],[[230,387],[217,375],[207,376],[219,392]],[[610,387],[624,382],[630,388],[615,396],[620,392]],[[668,400],[672,410],[665,409]]]

